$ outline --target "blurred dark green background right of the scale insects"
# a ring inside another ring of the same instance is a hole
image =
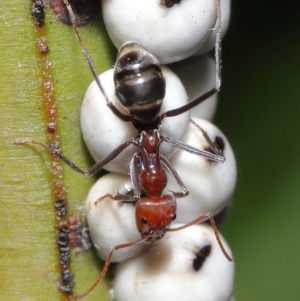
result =
[[[238,1],[223,42],[215,123],[238,163],[223,234],[237,301],[300,300],[300,6]]]

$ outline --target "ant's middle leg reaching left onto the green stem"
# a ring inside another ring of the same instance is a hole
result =
[[[101,161],[99,161],[98,163],[96,163],[92,168],[90,168],[87,171],[84,171],[83,169],[81,169],[80,167],[78,167],[75,163],[73,163],[72,161],[70,161],[67,157],[65,157],[60,152],[59,145],[57,143],[52,143],[50,145],[47,145],[45,143],[38,142],[38,141],[35,141],[35,140],[31,140],[31,139],[28,139],[28,138],[15,139],[14,143],[17,143],[17,144],[37,144],[37,145],[40,145],[43,148],[45,148],[47,151],[49,151],[54,157],[56,157],[56,158],[60,159],[61,161],[65,162],[68,166],[70,166],[75,171],[77,171],[77,172],[79,172],[79,173],[81,173],[81,174],[83,174],[85,176],[92,176],[96,172],[98,172],[100,169],[102,169],[104,165],[106,165],[107,163],[109,163],[110,161],[112,161],[114,158],[116,158],[129,145],[135,144],[135,141],[134,141],[134,139],[131,139],[131,140],[128,140],[127,142],[125,142],[125,143],[122,143],[116,149],[114,149],[108,156],[106,156],[105,158],[103,158]]]

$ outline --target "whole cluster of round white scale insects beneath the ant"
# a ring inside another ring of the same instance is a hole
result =
[[[219,58],[214,59],[209,52],[216,45],[220,20],[215,0],[181,0],[169,8],[161,2],[103,0],[102,13],[108,34],[117,48],[122,45],[124,48],[124,42],[135,41],[160,64],[170,64],[161,66],[166,82],[160,110],[164,113],[186,105],[216,85]],[[230,0],[220,2],[224,34],[229,24]],[[108,70],[99,75],[99,79],[109,101],[123,114],[128,114],[116,96],[114,72],[114,69]],[[203,129],[213,142],[219,141],[218,147],[226,159],[223,163],[213,162],[165,141],[159,145],[160,154],[169,160],[189,191],[188,195],[177,197],[181,187],[167,172],[162,195],[174,194],[177,203],[176,219],[170,228],[181,227],[206,213],[219,217],[220,225],[231,206],[236,162],[228,140],[210,122],[216,105],[217,94],[214,94],[192,110],[164,118],[159,128],[163,137],[209,150]],[[88,87],[82,102],[81,129],[96,162],[138,134],[131,122],[124,122],[107,106],[95,81]],[[132,158],[138,151],[136,145],[130,145],[106,164],[104,168],[111,173],[95,183],[86,200],[90,235],[103,260],[107,259],[112,247],[141,239],[132,196],[134,177],[129,175]],[[229,246],[222,237],[221,241],[231,257]],[[143,242],[116,250],[111,262],[118,263],[112,288],[112,297],[117,301],[233,300],[234,264],[225,258],[213,229],[203,223],[179,231],[166,231],[155,243]]]

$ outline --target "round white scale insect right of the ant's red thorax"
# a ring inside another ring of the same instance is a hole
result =
[[[176,222],[190,222],[204,213],[219,213],[230,202],[236,184],[236,161],[233,150],[222,132],[209,121],[193,118],[212,141],[221,137],[225,143],[224,163],[208,161],[202,156],[178,150],[170,159],[189,190],[189,195],[177,198]],[[209,149],[202,132],[190,124],[183,142],[198,149]],[[168,177],[167,189],[180,192],[180,187]],[[165,191],[167,193],[167,190]]]

